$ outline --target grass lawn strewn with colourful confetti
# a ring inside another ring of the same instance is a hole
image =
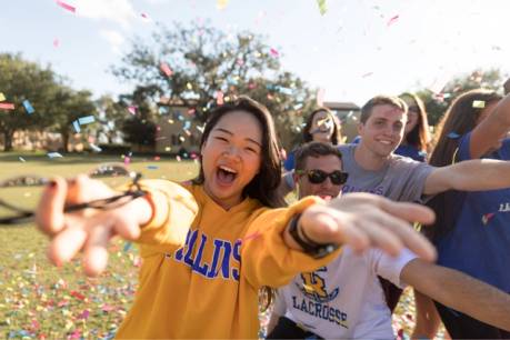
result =
[[[64,154],[49,159],[42,153],[0,153],[0,179],[23,173],[71,177],[112,161],[122,162],[122,158]],[[144,178],[177,181],[191,179],[198,172],[196,162],[179,162],[170,157],[134,157],[130,168]],[[0,227],[0,338],[111,338],[137,287],[140,259],[136,247],[117,240],[107,272],[88,279],[79,259],[62,268],[50,264],[44,253],[47,243],[31,224]],[[396,331],[409,334],[413,308],[412,294],[404,294],[393,318]],[[262,319],[267,321],[267,316]]]

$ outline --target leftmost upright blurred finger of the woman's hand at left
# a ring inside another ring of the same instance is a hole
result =
[[[44,189],[39,201],[36,221],[47,234],[56,234],[64,227],[63,207],[68,186],[62,178],[54,178]]]

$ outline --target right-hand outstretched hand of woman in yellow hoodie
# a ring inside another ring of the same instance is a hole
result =
[[[432,210],[420,204],[394,202],[371,193],[348,193],[304,210],[300,228],[317,243],[349,244],[358,251],[377,247],[393,256],[407,247],[433,261],[434,247],[410,226],[430,224],[433,220]]]

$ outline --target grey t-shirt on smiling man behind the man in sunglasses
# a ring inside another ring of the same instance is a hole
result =
[[[394,201],[422,202],[424,182],[433,167],[408,157],[391,154],[382,169],[364,170],[354,160],[357,147],[339,146],[343,171],[349,173],[342,193],[371,192]]]

